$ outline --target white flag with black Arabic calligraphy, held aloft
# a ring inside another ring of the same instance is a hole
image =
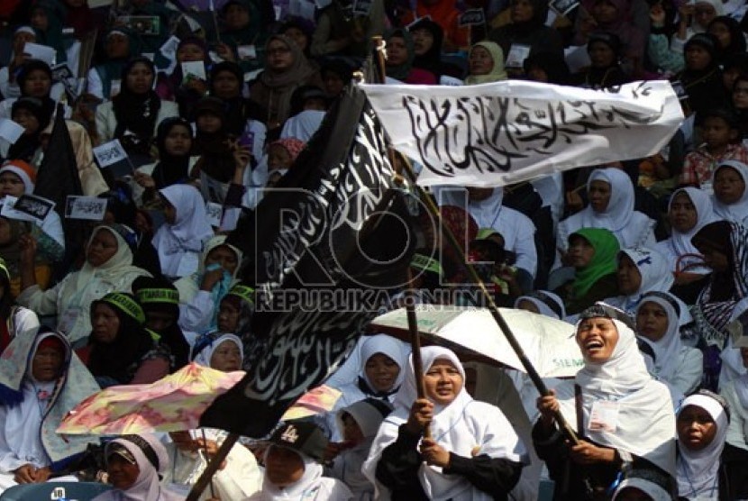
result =
[[[418,184],[500,187],[552,172],[639,159],[683,121],[667,81],[607,90],[505,81],[479,86],[360,86]]]

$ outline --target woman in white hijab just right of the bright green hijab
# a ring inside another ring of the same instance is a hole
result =
[[[647,292],[667,292],[673,284],[673,276],[665,257],[658,251],[641,247],[618,252],[616,280],[622,295],[608,297],[603,302],[627,314],[634,314],[636,306]]]

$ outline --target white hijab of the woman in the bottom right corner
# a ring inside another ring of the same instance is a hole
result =
[[[678,414],[688,405],[701,407],[716,424],[714,440],[701,451],[691,451],[682,444],[678,449],[678,494],[689,499],[716,499],[719,496],[719,465],[729,419],[723,407],[707,395],[688,396]]]

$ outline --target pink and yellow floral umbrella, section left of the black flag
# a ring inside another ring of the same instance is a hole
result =
[[[199,427],[215,398],[244,377],[191,363],[150,385],[108,387],[71,410],[57,433],[119,435]]]

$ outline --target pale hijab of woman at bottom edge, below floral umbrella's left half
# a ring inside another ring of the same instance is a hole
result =
[[[158,458],[159,468],[157,469],[151,463],[140,446],[125,438],[114,439],[106,445],[106,454],[108,455],[108,449],[112,443],[122,445],[135,458],[140,472],[132,487],[127,490],[113,489],[105,492],[101,496],[96,496],[95,501],[171,501],[178,499],[177,495],[170,493],[165,487],[161,486],[159,479],[159,475],[169,469],[169,453],[155,435],[141,433],[136,436],[148,442],[151,450],[155,452]]]

